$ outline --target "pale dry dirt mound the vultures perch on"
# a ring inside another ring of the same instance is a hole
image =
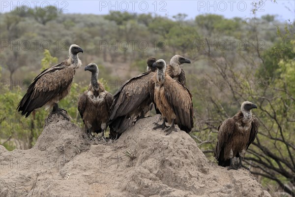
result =
[[[184,131],[152,130],[158,119],[91,145],[80,128],[54,115],[32,149],[0,146],[0,196],[270,197],[245,169],[209,164]]]

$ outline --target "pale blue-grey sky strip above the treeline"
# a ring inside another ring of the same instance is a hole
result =
[[[64,13],[107,14],[112,11],[128,11],[136,13],[156,13],[162,16],[172,16],[178,13],[194,19],[199,14],[214,13],[226,18],[253,17],[253,2],[259,0],[0,0],[0,11],[7,12],[16,6],[30,8],[48,4],[54,5]],[[257,16],[266,14],[278,15],[280,21],[295,20],[294,0],[264,0],[257,5]]]

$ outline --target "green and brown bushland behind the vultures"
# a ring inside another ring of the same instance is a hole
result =
[[[261,127],[246,163],[273,196],[294,196],[294,21],[280,22],[272,15],[226,19],[207,14],[187,20],[185,14],[169,19],[23,10],[0,14],[0,143],[8,150],[35,143],[49,112],[38,109],[25,119],[16,106],[41,69],[66,59],[70,44],[84,49],[79,56],[84,66],[99,65],[99,78],[111,93],[145,71],[149,56],[169,62],[179,54],[192,61],[184,66],[195,112],[190,135],[207,158],[214,161],[220,122],[243,101],[252,101]],[[77,99],[89,80],[90,73],[77,70],[70,94],[59,104],[80,127]]]

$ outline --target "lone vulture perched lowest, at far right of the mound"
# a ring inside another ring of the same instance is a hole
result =
[[[245,152],[254,141],[259,127],[259,121],[252,116],[251,109],[257,106],[252,102],[245,101],[241,105],[241,110],[232,118],[228,118],[218,127],[218,138],[214,157],[218,160],[218,165],[229,166],[229,169],[244,167],[242,158]],[[239,158],[239,164],[233,164],[233,158]]]

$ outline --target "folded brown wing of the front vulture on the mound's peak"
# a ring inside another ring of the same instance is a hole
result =
[[[194,127],[192,95],[189,90],[170,76],[165,76],[165,96],[176,114],[178,127],[189,133]]]

